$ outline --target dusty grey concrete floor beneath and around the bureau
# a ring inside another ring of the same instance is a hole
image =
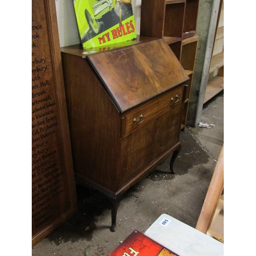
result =
[[[223,99],[221,92],[204,105],[202,122],[215,126],[186,127],[181,132],[176,176],[164,173],[169,170],[169,156],[127,191],[118,208],[115,232],[110,231],[111,210],[105,198],[78,186],[77,214],[36,244],[32,255],[106,256],[134,229],[144,232],[163,213],[195,227],[223,145]]]

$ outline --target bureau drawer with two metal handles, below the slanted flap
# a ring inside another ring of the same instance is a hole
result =
[[[183,86],[175,88],[153,99],[150,103],[139,106],[129,113],[124,113],[121,119],[121,136],[126,137],[136,132],[141,127],[180,105],[183,101],[183,89]]]

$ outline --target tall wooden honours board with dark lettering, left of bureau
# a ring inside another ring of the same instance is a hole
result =
[[[32,246],[76,211],[54,0],[32,0]]]

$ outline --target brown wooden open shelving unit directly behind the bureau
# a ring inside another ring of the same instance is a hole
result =
[[[141,1],[140,35],[164,38],[190,78],[181,129],[186,125],[199,39],[196,35],[198,4],[199,0]]]

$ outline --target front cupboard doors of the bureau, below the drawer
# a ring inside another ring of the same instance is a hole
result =
[[[179,142],[183,104],[122,139],[119,184],[142,174],[144,169]]]

